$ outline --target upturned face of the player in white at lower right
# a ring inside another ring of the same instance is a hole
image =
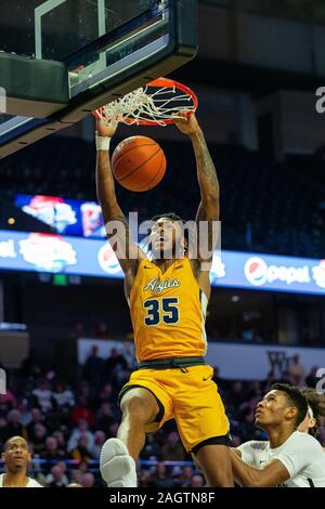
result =
[[[258,403],[255,421],[257,426],[265,429],[269,426],[282,425],[286,419],[292,418],[292,412],[286,393],[273,390]]]

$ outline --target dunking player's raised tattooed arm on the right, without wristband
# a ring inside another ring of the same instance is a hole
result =
[[[216,229],[213,229],[213,221],[219,220],[219,182],[217,178],[217,171],[212,158],[210,156],[204,133],[196,120],[194,114],[185,116],[182,119],[176,120],[176,125],[181,132],[187,134],[192,141],[192,145],[196,158],[197,179],[200,188],[200,204],[196,213],[196,225],[198,239],[207,244],[205,250],[212,252],[216,243],[217,235]],[[204,221],[205,223],[202,223]],[[204,226],[203,226],[204,225]],[[206,234],[203,234],[203,229]],[[214,234],[213,234],[214,232]],[[208,271],[211,265],[212,257],[208,259],[203,256],[202,246],[198,248],[197,259],[205,261],[205,270]]]

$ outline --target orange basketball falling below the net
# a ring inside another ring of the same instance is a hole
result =
[[[130,136],[115,148],[112,170],[115,179],[127,190],[148,191],[165,175],[166,157],[155,140]]]

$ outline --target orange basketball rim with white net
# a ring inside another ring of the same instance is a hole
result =
[[[197,96],[188,87],[172,79],[158,78],[98,108],[93,114],[106,126],[112,121],[167,126],[181,118],[181,112],[195,112],[197,105]]]

